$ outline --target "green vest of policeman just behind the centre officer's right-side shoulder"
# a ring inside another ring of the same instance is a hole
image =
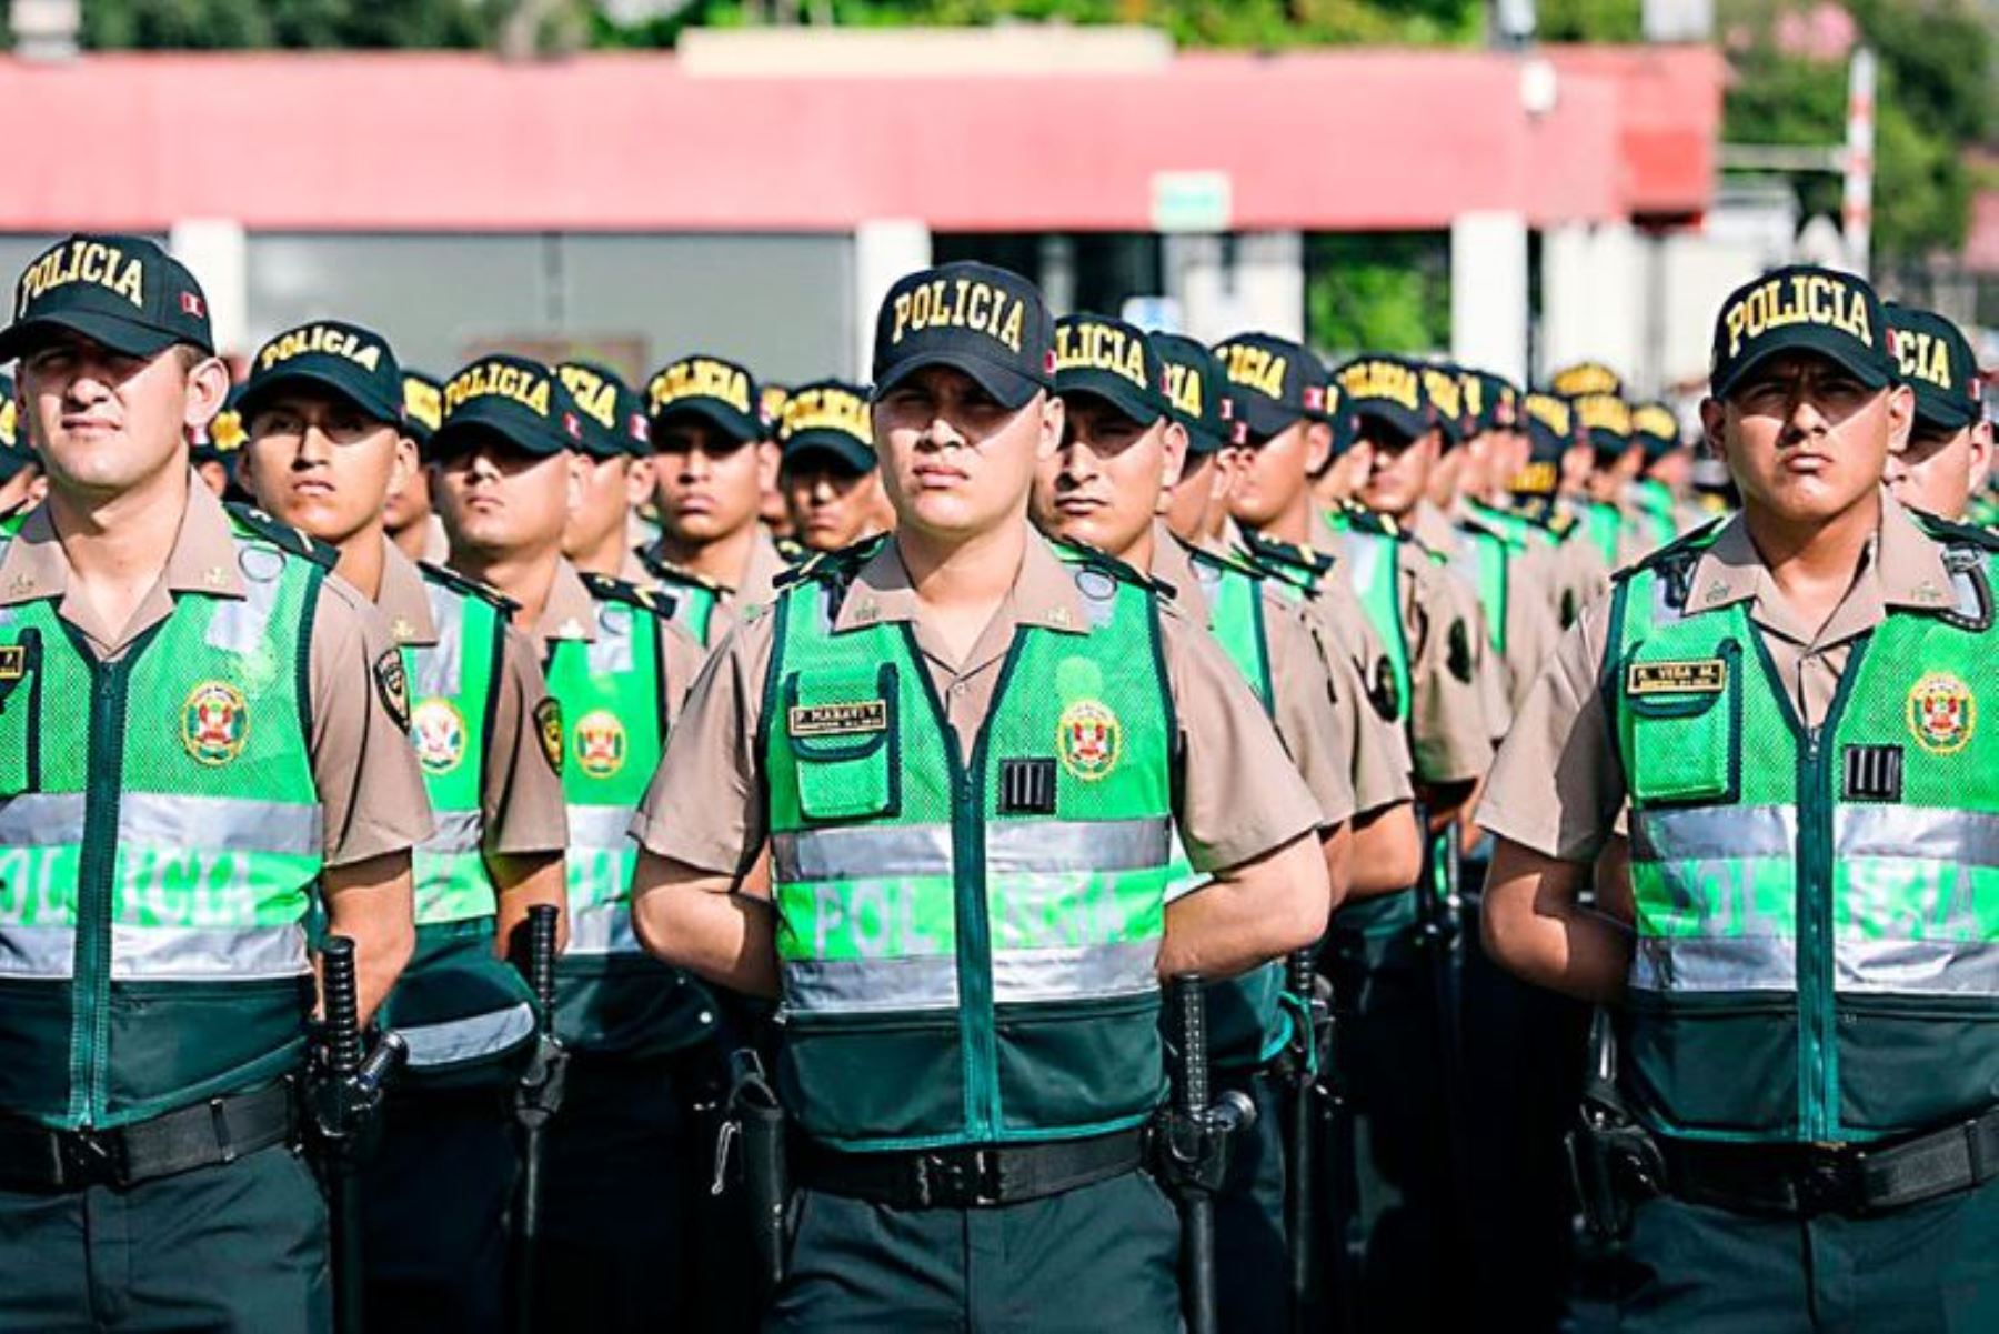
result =
[[[1221,652],[1249,682],[1263,712],[1275,716],[1269,636],[1263,630],[1263,588],[1267,580],[1249,566],[1189,548],[1193,576],[1207,598],[1207,630]],[[1193,878],[1179,838],[1173,840],[1173,878]],[[1271,960],[1239,978],[1207,988],[1207,1050],[1217,1068],[1253,1068],[1271,1060],[1291,1040],[1291,1018],[1283,1008],[1283,962]]]

